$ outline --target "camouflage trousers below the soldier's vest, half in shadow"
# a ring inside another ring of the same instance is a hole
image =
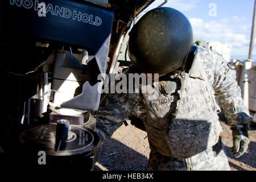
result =
[[[230,171],[221,140],[212,148],[187,159],[164,156],[151,149],[149,171]]]

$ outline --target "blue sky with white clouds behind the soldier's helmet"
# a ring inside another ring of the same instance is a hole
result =
[[[147,10],[162,2],[164,0],[155,0]],[[187,16],[194,35],[207,42],[231,44],[232,58],[247,59],[254,0],[168,0],[164,6],[179,10]],[[256,35],[253,55],[253,59],[256,59]]]

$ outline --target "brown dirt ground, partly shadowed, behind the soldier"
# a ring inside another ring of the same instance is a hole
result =
[[[256,128],[249,131],[250,144],[244,155],[235,158],[230,154],[233,146],[232,131],[221,119],[221,133],[224,151],[228,156],[232,171],[256,171]],[[96,165],[92,171],[145,171],[147,169],[150,148],[146,132],[128,122],[114,132],[112,138],[105,142],[98,151]]]

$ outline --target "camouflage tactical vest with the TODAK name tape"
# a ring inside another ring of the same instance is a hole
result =
[[[159,97],[155,100],[150,97],[152,94],[142,94],[147,107],[143,122],[148,142],[160,154],[185,159],[218,142],[222,131],[217,115],[220,107],[204,73],[202,65],[195,60],[189,74],[185,73],[182,92],[180,80],[176,79],[159,81],[159,89],[155,88]],[[171,114],[177,105],[179,112],[168,131]]]

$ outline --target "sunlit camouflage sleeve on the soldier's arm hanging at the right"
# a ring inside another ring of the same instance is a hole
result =
[[[217,101],[224,110],[228,125],[245,125],[250,122],[250,114],[241,97],[241,89],[236,81],[236,71],[221,55],[210,50],[204,51],[204,65],[211,80]]]

